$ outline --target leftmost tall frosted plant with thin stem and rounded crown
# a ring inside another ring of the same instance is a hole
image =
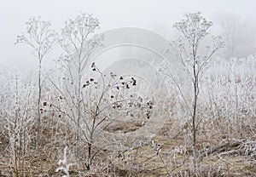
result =
[[[51,29],[49,21],[40,20],[40,17],[32,17],[26,22],[26,32],[18,35],[16,43],[26,43],[32,48],[32,54],[38,60],[38,138],[40,141],[40,106],[42,94],[42,61],[49,54],[57,39],[57,33]]]

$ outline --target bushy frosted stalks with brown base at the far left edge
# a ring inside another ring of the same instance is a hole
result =
[[[20,74],[6,74],[3,90],[1,89],[1,132],[8,140],[6,151],[9,153],[11,173],[23,175],[26,172],[26,157],[32,141],[32,125],[34,119],[34,85],[31,79],[26,83],[20,79]],[[2,82],[1,82],[2,83]],[[8,92],[4,92],[4,90]]]

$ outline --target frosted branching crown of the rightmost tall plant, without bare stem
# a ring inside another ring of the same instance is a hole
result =
[[[207,68],[207,63],[212,54],[218,49],[224,48],[222,37],[212,37],[212,46],[206,45],[205,52],[199,53],[202,47],[202,40],[207,37],[207,30],[212,26],[212,21],[208,21],[201,16],[201,13],[186,14],[185,20],[175,23],[174,27],[181,36],[170,43],[170,48],[166,52],[181,60],[185,71],[195,82],[193,77],[201,77]],[[194,73],[195,66],[195,73]]]

